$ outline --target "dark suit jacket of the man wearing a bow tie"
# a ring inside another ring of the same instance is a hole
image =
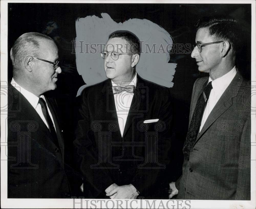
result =
[[[113,183],[133,184],[147,198],[163,195],[163,191],[157,192],[170,160],[169,89],[137,76],[122,137],[111,86],[108,79],[86,88],[81,95],[74,145],[78,166],[87,181],[85,196],[107,198],[102,194]],[[159,121],[143,123],[148,119]]]

